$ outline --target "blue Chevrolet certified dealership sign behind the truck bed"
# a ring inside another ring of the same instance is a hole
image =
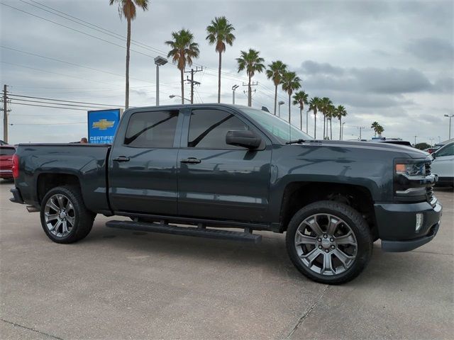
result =
[[[88,111],[88,142],[91,144],[112,144],[121,109]]]

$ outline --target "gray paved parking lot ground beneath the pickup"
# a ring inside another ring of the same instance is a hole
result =
[[[415,251],[375,243],[359,278],[314,283],[261,244],[109,229],[51,242],[0,183],[1,339],[453,339],[454,193]],[[110,217],[111,219],[111,217]]]

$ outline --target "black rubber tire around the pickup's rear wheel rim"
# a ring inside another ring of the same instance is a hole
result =
[[[67,198],[67,200],[70,200],[73,208],[72,210],[74,211],[74,216],[72,217],[74,218],[74,225],[72,226],[72,229],[70,230],[69,234],[60,237],[52,234],[52,232],[48,228],[48,223],[45,220],[45,206],[50,198],[57,194],[63,195],[65,196],[65,198]],[[82,193],[80,192],[80,189],[77,188],[77,186],[58,186],[56,188],[50,189],[50,191],[45,194],[41,202],[40,217],[41,225],[44,229],[45,234],[48,235],[48,237],[53,242],[69,244],[87,237],[89,232],[92,230],[94,217],[96,217],[96,214],[87,209],[84,204],[84,200],[82,199]]]

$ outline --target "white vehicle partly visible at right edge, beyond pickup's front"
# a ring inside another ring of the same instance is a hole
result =
[[[454,142],[450,142],[431,154],[432,171],[438,175],[438,186],[454,187]]]

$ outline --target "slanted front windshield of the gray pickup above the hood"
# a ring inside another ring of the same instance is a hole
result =
[[[241,111],[260,124],[262,128],[270,132],[273,136],[284,144],[289,140],[313,140],[311,136],[290,126],[285,120],[278,118],[271,113],[260,111],[255,108],[241,108]]]

